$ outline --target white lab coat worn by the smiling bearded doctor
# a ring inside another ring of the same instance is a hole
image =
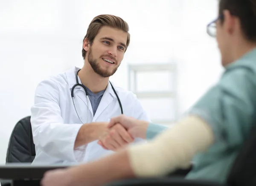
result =
[[[40,82],[36,88],[35,104],[31,108],[31,125],[36,150],[33,164],[88,162],[113,153],[103,149],[97,141],[73,149],[76,135],[82,126],[71,97],[71,89],[76,84],[78,69],[74,67],[57,76],[51,76]],[[81,83],[80,79],[79,83]],[[120,87],[114,86],[114,88],[122,103],[124,115],[150,121],[134,93]],[[83,88],[76,86],[74,96],[79,116],[84,122],[87,121],[87,117],[89,117],[89,123],[109,121],[112,117],[121,114],[110,83],[102,96],[95,116],[90,103],[90,114],[87,116],[88,106]],[[134,143],[138,141],[143,140],[138,138]]]

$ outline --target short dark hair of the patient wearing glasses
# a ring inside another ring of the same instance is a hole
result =
[[[256,0],[220,0],[219,15],[224,10],[237,16],[246,39],[256,42]],[[223,19],[221,22],[223,23]]]

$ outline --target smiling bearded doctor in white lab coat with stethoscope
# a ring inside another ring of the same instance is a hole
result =
[[[121,125],[107,127],[111,118],[122,113],[149,121],[133,93],[109,82],[129,42],[124,20],[99,15],[84,37],[83,68],[71,68],[39,83],[31,108],[33,163],[88,162],[143,141],[132,138]],[[104,147],[97,143],[100,139]]]

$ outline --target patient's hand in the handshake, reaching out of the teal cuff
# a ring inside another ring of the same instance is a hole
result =
[[[120,115],[115,118],[111,118],[108,127],[113,127],[117,124],[121,124],[128,131],[133,138],[146,139],[146,131],[148,128],[148,121],[138,120],[125,115]]]

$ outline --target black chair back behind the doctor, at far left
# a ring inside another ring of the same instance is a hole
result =
[[[35,158],[30,116],[15,125],[7,149],[6,163],[32,163]]]

